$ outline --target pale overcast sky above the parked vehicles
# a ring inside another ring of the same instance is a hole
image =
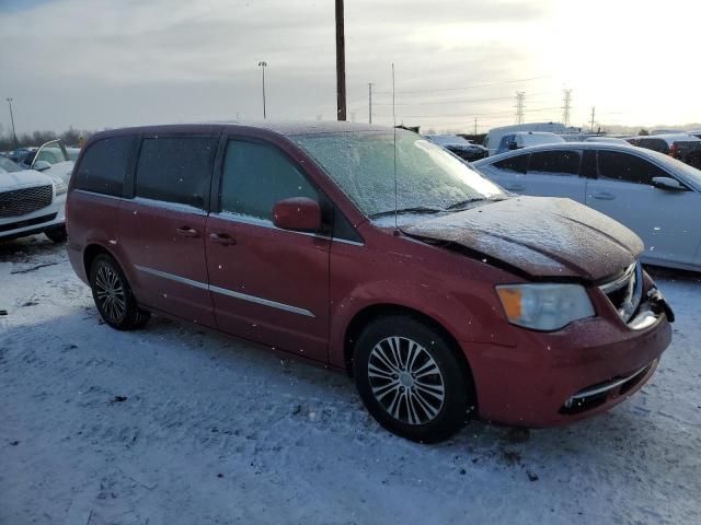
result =
[[[348,118],[480,131],[527,120],[701,121],[701,1],[345,0]],[[335,118],[333,0],[0,0],[18,132]],[[0,125],[10,128],[7,103]]]

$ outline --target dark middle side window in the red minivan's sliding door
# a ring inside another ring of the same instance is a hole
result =
[[[141,141],[136,196],[205,208],[218,139],[159,137]]]

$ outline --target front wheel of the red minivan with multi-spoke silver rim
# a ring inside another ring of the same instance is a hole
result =
[[[475,400],[470,372],[456,350],[439,330],[409,315],[368,324],[355,346],[353,371],[370,415],[390,432],[422,443],[458,432]]]

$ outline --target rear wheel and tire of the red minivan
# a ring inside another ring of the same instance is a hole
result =
[[[103,320],[117,330],[140,328],[151,317],[138,306],[124,271],[111,255],[100,254],[90,265],[90,288]]]

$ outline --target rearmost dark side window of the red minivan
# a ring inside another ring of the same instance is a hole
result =
[[[113,137],[94,142],[80,161],[76,187],[122,197],[133,143],[134,137]]]

